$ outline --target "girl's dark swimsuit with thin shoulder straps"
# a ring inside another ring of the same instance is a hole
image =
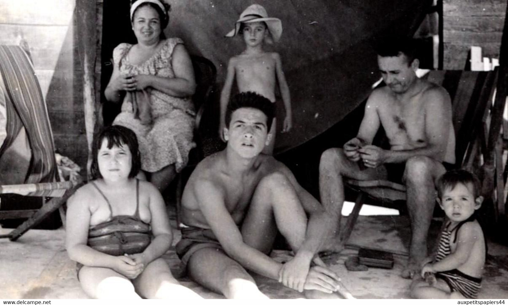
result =
[[[145,223],[139,216],[139,180],[136,180],[136,212],[130,215],[115,215],[111,204],[99,187],[90,182],[104,197],[111,213],[111,219],[94,225],[88,230],[87,245],[97,251],[120,256],[124,254],[136,254],[145,251],[151,243],[150,224]],[[83,264],[77,263],[76,269],[79,270]]]

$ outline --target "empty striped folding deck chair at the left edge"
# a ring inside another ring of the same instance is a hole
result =
[[[4,94],[7,113],[7,137],[0,147],[0,161],[22,127],[31,150],[24,183],[1,185],[0,193],[53,197],[39,210],[0,211],[0,219],[29,217],[9,234],[0,235],[0,238],[15,241],[61,207],[79,185],[77,181],[58,182],[48,111],[31,60],[21,47],[0,46],[0,77],[0,93]]]

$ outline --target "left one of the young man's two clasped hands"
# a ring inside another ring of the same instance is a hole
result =
[[[279,271],[279,283],[291,289],[303,292],[303,287],[309,273],[310,261],[296,255],[292,260],[282,265]]]

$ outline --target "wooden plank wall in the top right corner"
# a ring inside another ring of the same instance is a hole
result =
[[[462,70],[470,46],[499,58],[506,0],[444,0],[444,69]]]

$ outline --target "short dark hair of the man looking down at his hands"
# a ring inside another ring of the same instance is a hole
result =
[[[379,39],[375,42],[374,51],[381,57],[395,57],[402,53],[406,56],[408,65],[417,58],[416,41],[412,38]]]

